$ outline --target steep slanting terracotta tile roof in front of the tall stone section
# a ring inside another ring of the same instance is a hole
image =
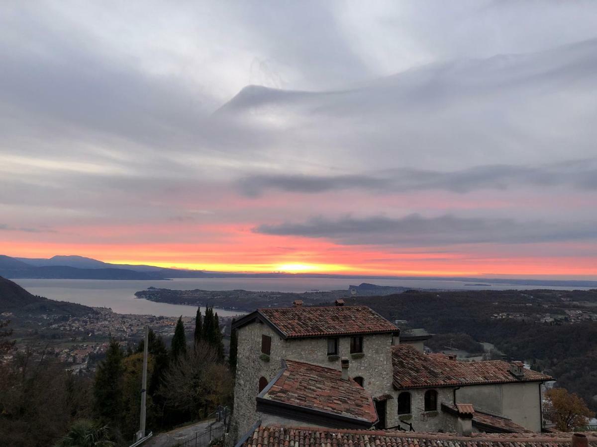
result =
[[[341,371],[293,360],[261,399],[324,411],[373,425],[377,413],[371,395]]]

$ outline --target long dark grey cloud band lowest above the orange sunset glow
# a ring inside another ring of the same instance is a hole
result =
[[[321,216],[304,223],[262,224],[254,232],[329,238],[341,244],[392,244],[432,246],[450,244],[521,244],[569,240],[595,240],[597,222],[555,224],[517,222],[501,218],[458,218],[451,215],[424,218],[418,214],[404,218],[373,216],[332,220]]]

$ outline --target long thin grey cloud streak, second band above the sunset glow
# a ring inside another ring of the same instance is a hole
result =
[[[364,175],[254,175],[237,182],[248,196],[265,191],[325,193],[338,190],[402,191],[447,190],[468,193],[474,190],[506,190],[516,187],[568,186],[597,189],[597,162],[584,160],[538,167],[514,165],[477,166],[453,172],[394,169]]]

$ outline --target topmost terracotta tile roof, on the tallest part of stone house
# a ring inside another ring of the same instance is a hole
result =
[[[367,306],[259,309],[257,312],[287,338],[399,331]]]

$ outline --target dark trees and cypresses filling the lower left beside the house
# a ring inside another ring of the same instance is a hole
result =
[[[0,321],[0,358],[14,352]],[[187,340],[179,318],[170,346],[151,329],[147,343],[146,427],[154,433],[207,417],[232,405],[236,333],[224,355],[219,317],[199,308]],[[94,439],[97,446],[130,445],[139,430],[144,340],[121,346],[110,339],[94,377],[72,374],[53,356],[33,361],[14,352],[0,365],[0,439],[8,445],[67,447]]]

